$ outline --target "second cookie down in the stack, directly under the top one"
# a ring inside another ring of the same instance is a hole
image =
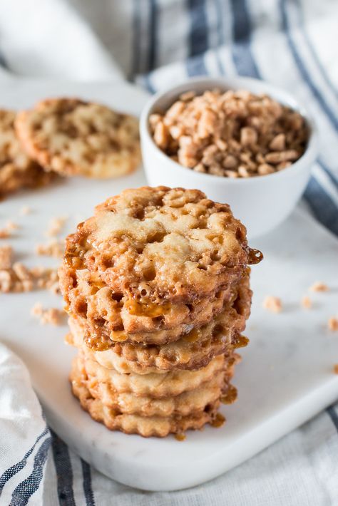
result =
[[[58,272],[66,311],[86,324],[91,345],[104,349],[110,341],[160,344],[175,341],[192,326],[203,326],[220,314],[225,300],[234,298],[237,286],[218,291],[214,297],[191,304],[178,302],[160,306],[153,316],[135,314],[128,297],[116,298],[97,272],[79,269],[71,273],[64,264]],[[141,307],[142,309],[142,307]]]

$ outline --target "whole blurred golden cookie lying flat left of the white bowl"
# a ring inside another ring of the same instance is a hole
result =
[[[138,120],[106,105],[51,98],[19,113],[15,125],[26,153],[61,175],[118,177],[140,163]]]

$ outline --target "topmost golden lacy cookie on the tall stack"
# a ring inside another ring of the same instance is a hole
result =
[[[168,303],[215,297],[261,258],[228,205],[199,190],[141,187],[106,200],[78,225],[63,269],[73,279],[78,269],[98,272],[113,299],[127,297],[131,314],[151,317]]]

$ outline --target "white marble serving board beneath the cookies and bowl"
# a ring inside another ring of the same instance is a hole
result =
[[[0,105],[28,106],[56,93],[102,100],[134,113],[140,112],[146,98],[131,86],[30,82],[2,87]],[[6,242],[13,245],[17,259],[41,264],[34,247],[46,240],[43,232],[51,217],[69,215],[65,232],[70,232],[108,195],[143,184],[143,172],[138,170],[116,181],[72,179],[22,193],[1,203],[0,227],[8,219],[18,222],[21,229]],[[22,205],[31,206],[31,215],[19,215]],[[241,351],[243,361],[233,381],[238,400],[222,407],[225,425],[189,432],[184,442],[113,433],[91,420],[68,384],[75,351],[63,343],[66,325],[40,326],[30,316],[36,301],[45,307],[61,307],[60,298],[46,291],[0,294],[1,341],[29,367],[51,427],[102,473],[144,490],[198,485],[255,455],[337,399],[338,376],[332,367],[338,363],[338,334],[326,327],[329,316],[338,311],[337,240],[297,210],[275,232],[251,245],[262,249],[265,260],[252,267],[255,296],[246,331],[250,345]],[[52,259],[43,262],[55,264]],[[300,299],[317,280],[329,284],[330,291],[309,294],[314,306],[302,309]],[[267,294],[280,296],[281,314],[262,309]]]

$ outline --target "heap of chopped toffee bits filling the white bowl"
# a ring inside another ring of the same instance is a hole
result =
[[[267,95],[188,92],[150,115],[158,148],[196,172],[222,177],[268,175],[290,167],[307,145],[306,121]]]

